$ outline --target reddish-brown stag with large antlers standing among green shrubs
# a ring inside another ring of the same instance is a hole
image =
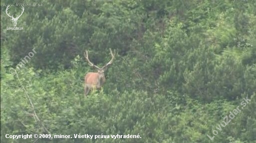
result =
[[[98,70],[98,72],[88,72],[84,76],[84,96],[87,96],[87,94],[92,88],[100,89],[102,85],[105,83],[106,78],[104,75],[104,71],[107,69],[109,65],[112,64],[115,57],[115,51],[113,54],[112,50],[110,49],[110,54],[112,56],[112,59],[105,66],[103,66],[102,68],[99,68],[98,66],[90,62],[88,58],[88,51],[87,50],[85,51],[84,53],[85,60],[89,63],[89,66],[94,67],[95,69]]]

